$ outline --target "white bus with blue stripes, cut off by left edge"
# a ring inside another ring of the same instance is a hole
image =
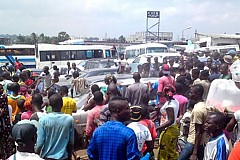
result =
[[[16,57],[19,62],[23,63],[27,68],[36,67],[34,45],[14,44],[10,46],[0,46],[0,63],[2,65],[7,62],[14,65]]]

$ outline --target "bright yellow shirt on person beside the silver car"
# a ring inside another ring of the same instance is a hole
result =
[[[62,113],[65,114],[72,114],[73,111],[77,111],[77,104],[74,99],[71,97],[63,97],[63,106],[62,106]]]

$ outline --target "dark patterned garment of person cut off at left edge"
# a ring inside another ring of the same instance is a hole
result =
[[[3,86],[0,85],[0,159],[7,159],[12,155],[13,146],[9,142],[11,127],[7,96],[3,94]]]

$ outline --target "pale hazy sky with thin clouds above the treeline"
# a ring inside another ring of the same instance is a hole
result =
[[[129,36],[146,31],[147,11],[160,11],[160,31],[174,39],[240,32],[240,0],[1,0],[0,34]],[[157,19],[149,19],[149,27]],[[157,31],[157,27],[151,29]]]

